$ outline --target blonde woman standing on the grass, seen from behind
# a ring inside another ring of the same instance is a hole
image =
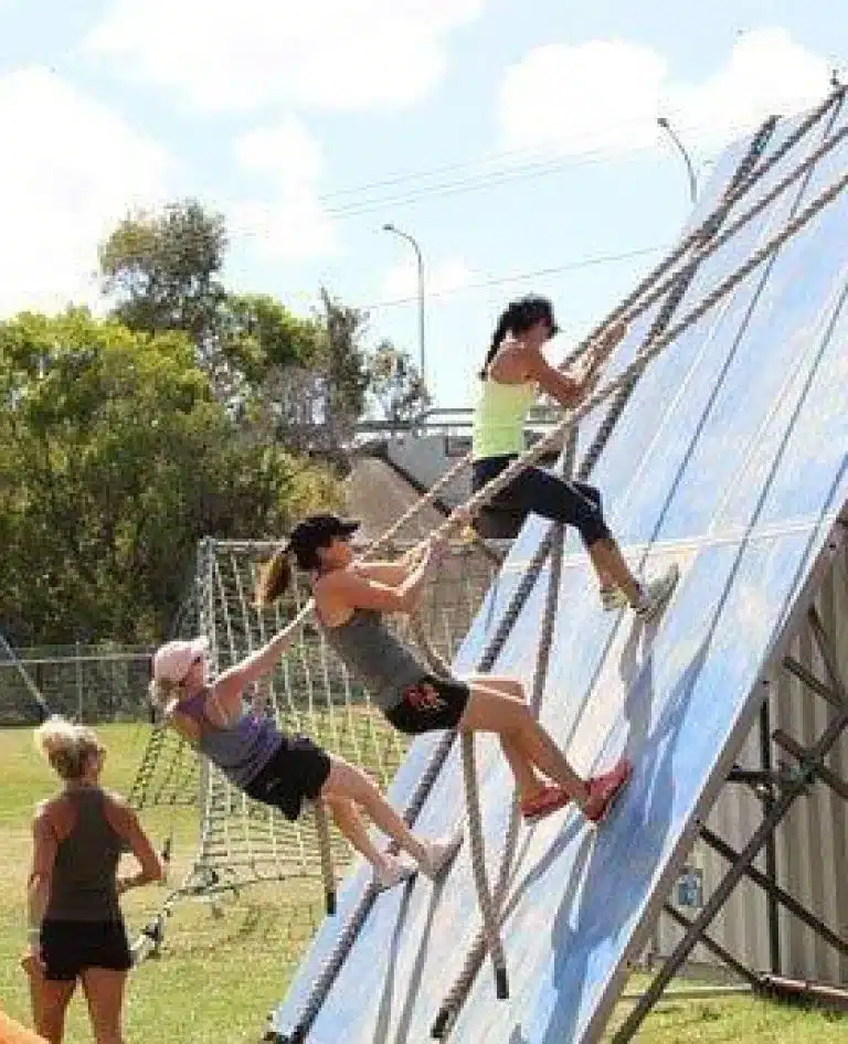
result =
[[[82,981],[96,1044],[120,1044],[130,954],[118,896],[158,881],[162,864],[136,813],[100,789],[105,752],[93,729],[53,717],[36,729],[35,743],[63,781],[33,822],[22,965],[35,1027],[61,1044],[65,1011]],[[125,849],[140,870],[118,877]]]

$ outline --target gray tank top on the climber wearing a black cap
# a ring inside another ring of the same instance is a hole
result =
[[[377,609],[354,609],[340,627],[321,625],[327,643],[371,693],[383,711],[398,706],[403,690],[428,672],[383,622]]]

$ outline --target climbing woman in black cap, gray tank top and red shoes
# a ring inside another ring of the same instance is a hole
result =
[[[467,518],[456,512],[454,522],[464,525]],[[432,674],[385,626],[383,615],[414,611],[448,545],[433,536],[399,562],[358,562],[350,544],[358,526],[332,514],[305,519],[263,568],[257,600],[268,604],[288,587],[294,556],[309,573],[327,641],[396,728],[410,735],[444,728],[495,733],[526,820],[574,801],[589,820],[600,822],[629,779],[629,763],[623,759],[608,773],[582,779],[530,713],[518,679]]]

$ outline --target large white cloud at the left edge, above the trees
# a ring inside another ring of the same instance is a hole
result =
[[[0,315],[94,302],[97,244],[163,198],[167,153],[39,67],[0,77]]]

